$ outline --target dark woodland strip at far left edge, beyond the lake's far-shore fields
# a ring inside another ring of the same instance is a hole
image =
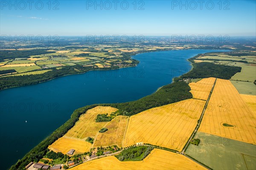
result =
[[[35,50],[0,50],[0,62],[3,62],[4,59],[15,59],[15,58],[29,58],[29,56],[40,55],[40,54],[49,54],[52,51],[47,51],[43,49]]]

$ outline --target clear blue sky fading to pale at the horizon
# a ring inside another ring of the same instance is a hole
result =
[[[256,0],[1,0],[0,34],[256,36]]]

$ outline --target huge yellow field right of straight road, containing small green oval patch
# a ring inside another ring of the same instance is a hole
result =
[[[224,127],[223,123],[234,127]],[[255,113],[229,80],[217,79],[199,130],[256,144]]]

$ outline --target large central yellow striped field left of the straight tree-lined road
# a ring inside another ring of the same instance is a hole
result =
[[[123,146],[144,142],[182,150],[197,125],[204,104],[203,100],[187,99],[131,116]]]

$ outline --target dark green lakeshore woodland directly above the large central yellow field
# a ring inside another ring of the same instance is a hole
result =
[[[150,108],[191,99],[192,94],[189,92],[190,90],[191,89],[186,82],[173,82],[172,84],[163,86],[154,94],[145,96],[136,101],[101,105],[118,108],[119,115],[131,116]]]

